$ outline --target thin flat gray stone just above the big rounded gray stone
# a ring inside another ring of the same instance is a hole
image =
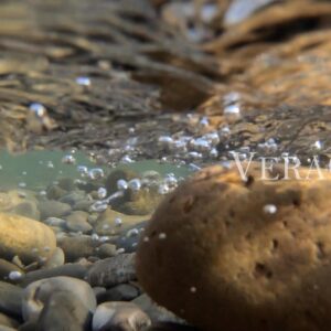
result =
[[[73,277],[78,279],[84,279],[87,275],[88,266],[82,264],[65,264],[63,266],[52,268],[52,269],[40,269],[35,271],[28,273],[22,279],[21,285],[28,286],[29,284],[58,276]]]

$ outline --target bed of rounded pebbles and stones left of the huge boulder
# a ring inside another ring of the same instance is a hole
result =
[[[180,179],[107,173],[77,164],[75,153],[62,163],[78,179],[0,192],[0,329],[186,330],[143,292],[135,263],[150,213]]]

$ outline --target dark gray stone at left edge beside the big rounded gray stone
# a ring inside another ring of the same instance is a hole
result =
[[[0,281],[0,311],[21,318],[23,289],[9,282]]]

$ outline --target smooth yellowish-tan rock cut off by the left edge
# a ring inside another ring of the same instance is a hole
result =
[[[24,264],[44,261],[54,252],[56,237],[47,225],[14,214],[0,213],[0,258],[15,255]]]

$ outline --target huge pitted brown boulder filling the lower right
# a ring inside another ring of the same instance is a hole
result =
[[[139,244],[139,281],[205,331],[329,331],[330,174],[259,177],[257,163],[247,181],[213,167],[168,195]]]

